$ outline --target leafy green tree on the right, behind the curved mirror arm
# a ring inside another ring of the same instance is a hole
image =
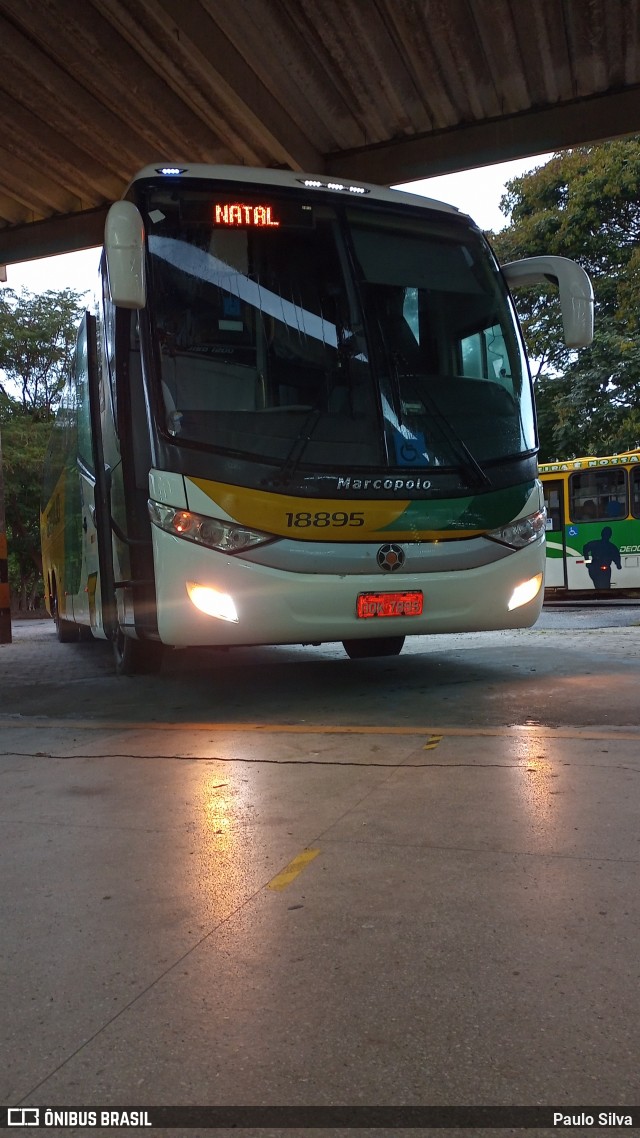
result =
[[[541,457],[610,454],[640,446],[640,139],[579,147],[507,183],[510,224],[493,236],[502,263],[542,253],[573,257],[590,274],[590,348],[563,341],[553,289],[518,291],[534,361]]]

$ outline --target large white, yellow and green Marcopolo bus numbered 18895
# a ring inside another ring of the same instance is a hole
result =
[[[366,183],[148,166],[110,207],[41,510],[61,641],[163,649],[514,628],[542,604],[532,385],[509,286],[452,206]]]

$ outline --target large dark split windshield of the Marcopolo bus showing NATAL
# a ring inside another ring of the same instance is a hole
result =
[[[467,468],[535,448],[477,231],[379,203],[147,190],[149,310],[177,443],[276,467]]]

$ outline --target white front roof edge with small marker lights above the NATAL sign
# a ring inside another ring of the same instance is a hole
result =
[[[158,163],[155,166],[145,166],[131,180],[130,187],[146,178],[157,178],[158,174],[166,178],[180,179],[215,179],[216,181],[244,182],[255,185],[282,185],[289,189],[300,189],[301,185],[310,190],[319,190],[328,193],[343,193],[344,196],[360,197],[371,196],[376,201],[393,201],[395,205],[418,206],[422,209],[441,209],[443,213],[456,214],[471,222],[473,218],[462,213],[457,206],[450,206],[445,201],[437,201],[435,198],[420,197],[418,193],[409,193],[405,190],[392,190],[384,185],[374,185],[370,182],[355,182],[348,178],[331,178],[327,174],[303,174],[290,170],[262,170],[255,166],[206,166],[202,164],[184,165],[175,163]],[[346,191],[346,193],[344,192]]]

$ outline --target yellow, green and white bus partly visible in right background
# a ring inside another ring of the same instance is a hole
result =
[[[545,594],[640,596],[640,451],[540,465]]]

